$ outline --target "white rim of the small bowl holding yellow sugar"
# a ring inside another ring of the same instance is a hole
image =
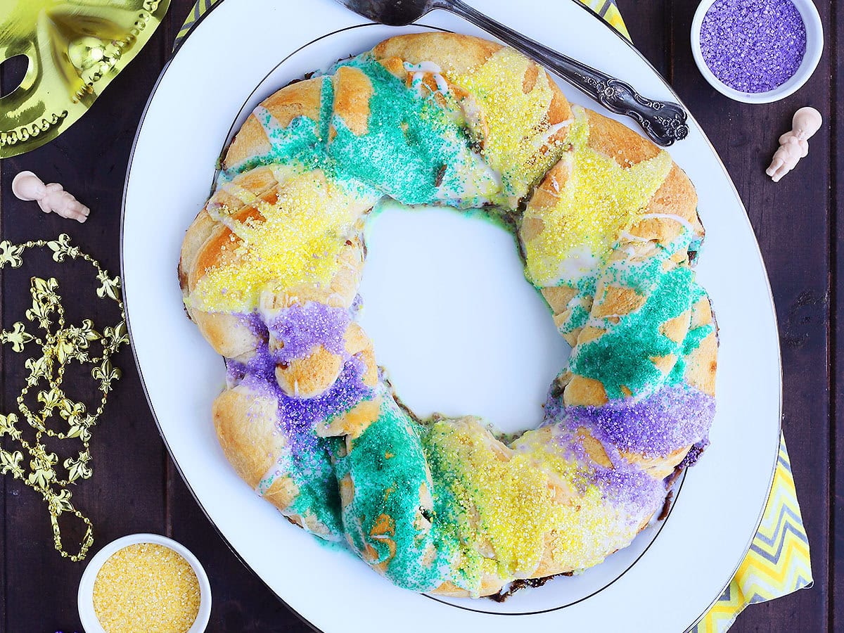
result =
[[[82,580],[79,581],[78,608],[79,618],[82,619],[82,626],[86,633],[106,633],[94,611],[94,581],[100,572],[100,568],[118,549],[138,543],[164,545],[176,554],[181,555],[191,565],[193,573],[197,575],[199,581],[199,611],[197,612],[197,619],[193,620],[193,624],[187,630],[187,633],[203,633],[205,627],[208,626],[208,619],[211,617],[211,583],[208,582],[208,574],[205,573],[203,565],[199,564],[197,557],[187,547],[181,543],[176,543],[172,538],[160,534],[143,533],[129,534],[123,538],[118,538],[116,541],[111,541],[106,547],[100,549],[85,567]]]

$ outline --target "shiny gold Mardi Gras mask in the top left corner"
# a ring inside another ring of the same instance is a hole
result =
[[[170,0],[0,0],[0,63],[22,55],[0,98],[0,159],[56,138],[149,41]]]

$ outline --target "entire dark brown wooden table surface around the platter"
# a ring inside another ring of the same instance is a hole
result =
[[[9,1],[14,2],[0,4]],[[3,239],[54,239],[67,232],[112,274],[119,273],[120,208],[129,149],[143,105],[192,3],[172,0],[153,40],[68,132],[30,154],[0,162]],[[839,299],[844,291],[844,173],[837,158],[844,151],[844,73],[839,72],[842,57],[836,48],[844,38],[844,15],[835,0],[816,0],[827,43],[809,84],[779,103],[744,106],[711,89],[695,68],[689,30],[696,3],[618,3],[637,46],[674,85],[733,176],[776,300],[783,427],[812,548],[814,587],[749,607],[733,630],[844,630],[844,476],[836,473],[844,458],[844,328],[839,320],[844,307]],[[14,87],[13,71],[0,69],[3,94]],[[823,113],[825,125],[811,140],[809,157],[798,170],[773,184],[763,172],[776,138],[789,129],[793,111],[806,105]],[[32,203],[20,203],[10,191],[19,170],[62,182],[89,204],[89,222],[77,225],[41,214]],[[150,252],[155,252],[154,245]],[[30,301],[26,284],[20,276],[3,273],[4,326],[23,318]],[[89,289],[74,289],[65,282],[61,291],[66,300],[90,301]],[[0,413],[8,413],[15,408],[21,368],[8,346],[3,347],[2,360]],[[164,533],[192,549],[208,570],[214,587],[208,630],[309,630],[241,565],[193,500],[165,452],[129,349],[119,354],[116,365],[123,378],[95,430],[94,477],[73,493],[77,506],[95,524],[95,549],[127,533]],[[0,630],[80,630],[76,592],[84,565],[62,559],[52,549],[41,499],[19,481],[0,478],[0,511]],[[695,555],[689,553],[690,565]],[[669,587],[666,599],[671,599]]]

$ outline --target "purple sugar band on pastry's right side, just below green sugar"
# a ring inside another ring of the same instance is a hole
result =
[[[549,398],[546,416],[569,430],[585,427],[604,446],[646,457],[667,457],[706,439],[715,417],[715,398],[688,385],[664,386],[634,401],[610,400],[599,407],[561,407]]]

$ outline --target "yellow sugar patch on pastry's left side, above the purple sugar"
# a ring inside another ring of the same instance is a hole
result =
[[[235,195],[243,193],[236,186],[228,188]],[[240,240],[236,257],[206,271],[192,292],[192,306],[250,311],[270,281],[281,288],[306,282],[327,285],[354,223],[353,200],[342,187],[309,174],[284,182],[274,204],[255,200],[263,221],[227,222],[237,236],[232,239]]]

